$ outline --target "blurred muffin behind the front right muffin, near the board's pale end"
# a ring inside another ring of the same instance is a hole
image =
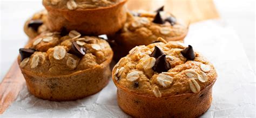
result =
[[[171,13],[163,11],[162,7],[156,12],[127,12],[124,27],[108,37],[117,45],[112,48],[114,59],[119,60],[133,47],[157,42],[158,37],[166,41],[183,41],[187,31],[186,23],[177,20]]]

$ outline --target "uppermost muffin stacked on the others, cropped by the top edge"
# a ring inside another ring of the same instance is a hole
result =
[[[86,35],[111,34],[123,27],[126,0],[43,0],[49,13],[46,25],[51,31],[63,27]]]

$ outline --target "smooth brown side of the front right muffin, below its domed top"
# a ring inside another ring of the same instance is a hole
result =
[[[135,94],[116,84],[117,101],[119,107],[133,117],[198,117],[211,106],[213,84],[199,93],[163,98]]]

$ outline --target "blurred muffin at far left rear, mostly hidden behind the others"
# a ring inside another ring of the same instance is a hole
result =
[[[24,32],[29,36],[29,39],[33,39],[42,32],[49,29],[44,24],[47,18],[47,11],[42,10],[33,14],[32,18],[29,18],[24,25]]]

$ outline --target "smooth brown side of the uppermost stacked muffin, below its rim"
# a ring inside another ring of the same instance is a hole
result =
[[[86,35],[111,34],[123,27],[126,20],[126,1],[98,9],[55,9],[45,5],[48,10],[46,25],[52,31],[60,31],[63,27],[69,31],[76,29]]]

